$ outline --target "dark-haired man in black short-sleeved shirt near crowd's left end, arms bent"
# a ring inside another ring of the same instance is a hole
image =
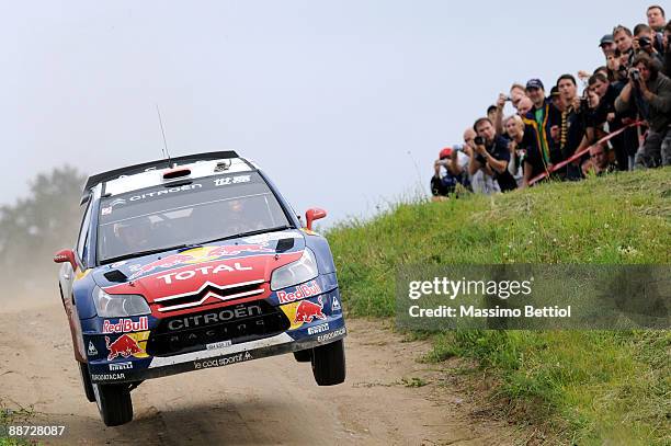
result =
[[[518,183],[508,171],[510,161],[508,141],[496,135],[493,124],[488,117],[476,121],[473,128],[478,136],[474,139],[475,157],[468,164],[469,173],[475,175],[481,170],[487,175],[493,176],[501,192],[516,188]]]

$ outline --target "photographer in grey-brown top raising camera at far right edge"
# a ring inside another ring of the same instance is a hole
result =
[[[648,122],[649,130],[638,148],[636,169],[671,164],[671,80],[660,71],[660,64],[647,54],[639,54],[632,62],[629,81],[615,100],[615,110],[624,113],[632,107]]]

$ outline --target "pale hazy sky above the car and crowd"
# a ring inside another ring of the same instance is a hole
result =
[[[0,2],[0,205],[38,172],[236,150],[326,226],[418,191],[514,81],[603,65],[647,2]],[[508,110],[509,112],[511,110]]]

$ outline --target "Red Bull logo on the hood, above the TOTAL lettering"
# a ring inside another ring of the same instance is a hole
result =
[[[171,268],[184,264],[202,263],[217,260],[229,255],[240,255],[242,253],[266,253],[275,252],[274,250],[262,244],[226,244],[223,247],[194,248],[179,254],[168,255],[167,258],[157,260],[137,268],[130,279],[135,279],[145,274],[149,274],[156,270]]]

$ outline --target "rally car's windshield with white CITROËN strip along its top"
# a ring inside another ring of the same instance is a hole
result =
[[[288,227],[257,172],[215,175],[103,197],[98,262]]]

